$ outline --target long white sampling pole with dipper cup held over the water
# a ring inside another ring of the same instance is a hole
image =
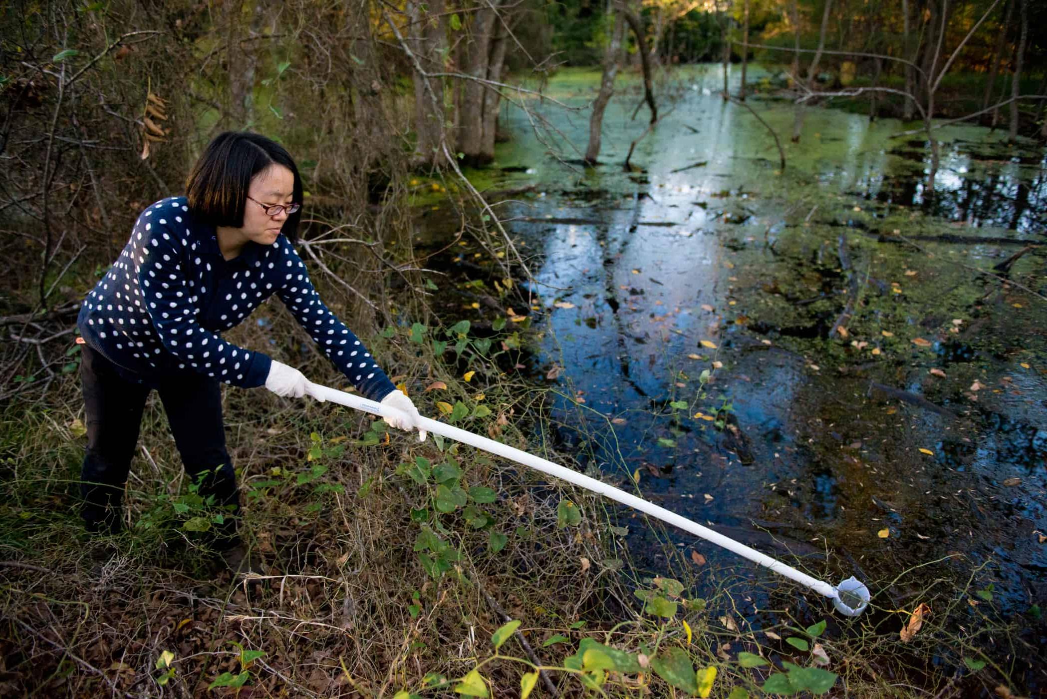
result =
[[[327,386],[320,386],[318,384],[310,384],[308,393],[318,400],[330,400],[331,402],[336,402],[348,408],[353,408],[382,417],[400,413],[400,411],[397,411],[395,408],[389,408],[388,406],[383,406],[375,402],[374,400],[367,400],[362,396],[346,393],[344,391],[332,389]],[[819,594],[825,595],[832,600],[832,604],[838,611],[847,616],[857,616],[868,606],[870,599],[869,589],[853,577],[844,581],[839,587],[833,587],[824,581],[811,577],[796,568],[787,566],[781,561],[772,559],[765,553],[760,553],[754,548],[740,544],[733,539],[729,539],[721,533],[713,531],[708,527],[704,527],[696,522],[692,522],[685,517],[681,517],[675,512],[669,511],[665,507],[660,507],[654,503],[638,498],[634,495],[630,495],[612,485],[598,481],[595,478],[589,478],[584,474],[579,474],[576,471],[572,471],[565,466],[561,466],[547,459],[534,456],[533,454],[528,454],[527,452],[514,449],[508,444],[503,444],[502,442],[488,439],[487,437],[481,437],[472,432],[461,430],[451,424],[447,424],[446,422],[438,422],[437,420],[432,420],[427,417],[420,418],[418,428],[420,430],[425,430],[426,432],[431,432],[436,435],[447,437],[448,439],[469,444],[470,446],[475,446],[476,449],[485,452],[503,456],[525,466],[534,468],[535,471],[540,471],[543,474],[555,476],[556,478],[565,480],[569,483],[579,485],[586,490],[592,490],[593,493],[616,500],[623,505],[628,505],[633,509],[639,509],[642,512],[658,518],[663,522],[671,524],[674,527],[678,527],[696,537],[701,537],[706,541],[710,541],[717,546],[721,546],[722,548],[737,553],[744,559],[749,559],[754,563],[770,568],[779,575],[784,575],[789,580],[796,581],[797,583],[810,588]],[[841,593],[845,595],[846,599],[841,599]]]

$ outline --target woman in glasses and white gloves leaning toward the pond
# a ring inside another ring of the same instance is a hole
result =
[[[80,312],[88,435],[83,517],[91,531],[120,529],[142,409],[156,389],[186,474],[200,484],[199,495],[225,512],[214,543],[237,568],[245,558],[236,525],[240,499],[219,383],[265,386],[295,398],[309,383],[220,333],[276,294],[358,391],[403,411],[402,419],[389,418],[393,427],[413,430],[418,411],[324,305],[291,246],[302,178],[282,146],[253,133],[223,133],[207,146],[185,190],[184,197],[141,213]],[[424,432],[419,436],[425,439]]]

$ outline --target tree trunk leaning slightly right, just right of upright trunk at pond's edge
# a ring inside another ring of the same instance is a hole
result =
[[[463,161],[469,166],[487,165],[494,158],[494,153],[484,151],[484,99],[489,88],[481,81],[487,80],[490,65],[494,23],[497,21],[496,5],[497,2],[492,2],[481,6],[469,24],[469,43],[465,50],[468,57],[466,72],[471,79],[464,79],[460,114],[462,126],[458,133],[458,150],[463,154]]]

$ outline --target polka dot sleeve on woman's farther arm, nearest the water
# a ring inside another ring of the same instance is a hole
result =
[[[381,400],[396,390],[363,343],[320,300],[305,263],[286,242],[280,264],[284,271],[284,282],[276,291],[281,301],[353,386],[372,400]]]

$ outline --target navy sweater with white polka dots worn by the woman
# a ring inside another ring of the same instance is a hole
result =
[[[275,293],[325,354],[363,395],[394,390],[362,343],[320,301],[302,258],[281,235],[272,245],[248,242],[225,260],[215,226],[194,220],[185,197],[149,206],[119,258],[87,294],[81,334],[130,380],[199,372],[253,388],[272,359],[220,333],[239,325]]]

